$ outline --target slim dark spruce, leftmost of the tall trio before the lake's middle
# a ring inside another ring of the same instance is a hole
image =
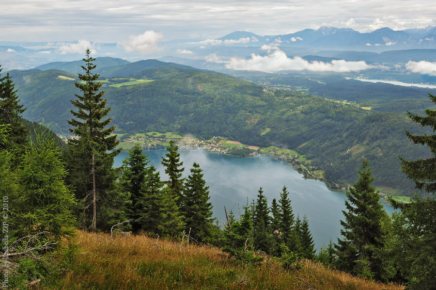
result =
[[[271,231],[269,227],[270,217],[268,201],[263,193],[264,192],[262,191],[261,187],[258,191],[256,205],[254,208],[253,245],[255,249],[269,253],[271,246],[271,239],[269,235],[272,235],[273,231]]]

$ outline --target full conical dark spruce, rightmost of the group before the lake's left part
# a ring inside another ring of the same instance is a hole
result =
[[[198,242],[207,242],[212,237],[214,219],[212,203],[209,202],[209,187],[203,179],[202,169],[196,162],[187,177],[182,196],[181,211],[185,216],[186,231]]]

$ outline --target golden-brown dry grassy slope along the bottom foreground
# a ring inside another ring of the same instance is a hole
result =
[[[77,232],[78,253],[64,274],[43,281],[43,289],[287,289],[400,290],[304,261],[286,272],[266,260],[257,268],[236,266],[217,248],[192,246],[146,236],[117,237]]]

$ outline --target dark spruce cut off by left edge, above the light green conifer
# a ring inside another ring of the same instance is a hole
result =
[[[0,65],[0,125],[9,125],[7,141],[0,144],[0,149],[8,148],[14,144],[27,145],[28,129],[23,125],[22,113],[26,110],[20,105],[16,95],[15,83],[9,73],[1,77]]]

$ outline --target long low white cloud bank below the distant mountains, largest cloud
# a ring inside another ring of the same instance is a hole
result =
[[[300,57],[288,58],[280,49],[271,52],[266,56],[251,54],[251,59],[231,58],[227,68],[237,70],[256,70],[265,72],[279,72],[285,70],[310,70],[310,71],[333,71],[350,72],[374,68],[364,61],[347,62],[344,60],[333,60],[331,63],[308,62]]]

